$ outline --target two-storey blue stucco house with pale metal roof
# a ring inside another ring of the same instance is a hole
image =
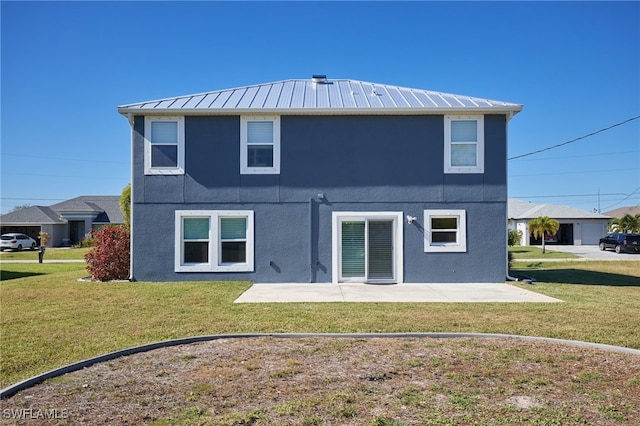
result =
[[[325,76],[120,106],[132,279],[502,282],[521,109]]]

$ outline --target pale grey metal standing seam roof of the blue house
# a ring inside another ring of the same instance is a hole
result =
[[[357,80],[294,79],[139,102],[118,107],[123,115],[244,113],[471,113],[509,116],[522,105]],[[324,76],[321,76],[324,77]]]

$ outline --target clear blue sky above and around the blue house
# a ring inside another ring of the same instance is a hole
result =
[[[2,1],[0,13],[2,213],[119,195],[118,105],[312,74],[523,104],[510,157],[640,116],[639,2]],[[509,196],[640,205],[640,119],[509,161]]]

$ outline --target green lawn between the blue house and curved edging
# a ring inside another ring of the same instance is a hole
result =
[[[537,279],[516,285],[565,303],[233,304],[250,283],[79,282],[84,263],[3,263],[0,386],[118,349],[218,333],[507,333],[640,349],[640,262],[516,266]]]

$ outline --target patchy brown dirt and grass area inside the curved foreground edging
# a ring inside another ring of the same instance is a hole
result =
[[[518,339],[265,337],[94,365],[2,401],[2,421],[621,425],[640,422],[639,401],[632,354]]]

